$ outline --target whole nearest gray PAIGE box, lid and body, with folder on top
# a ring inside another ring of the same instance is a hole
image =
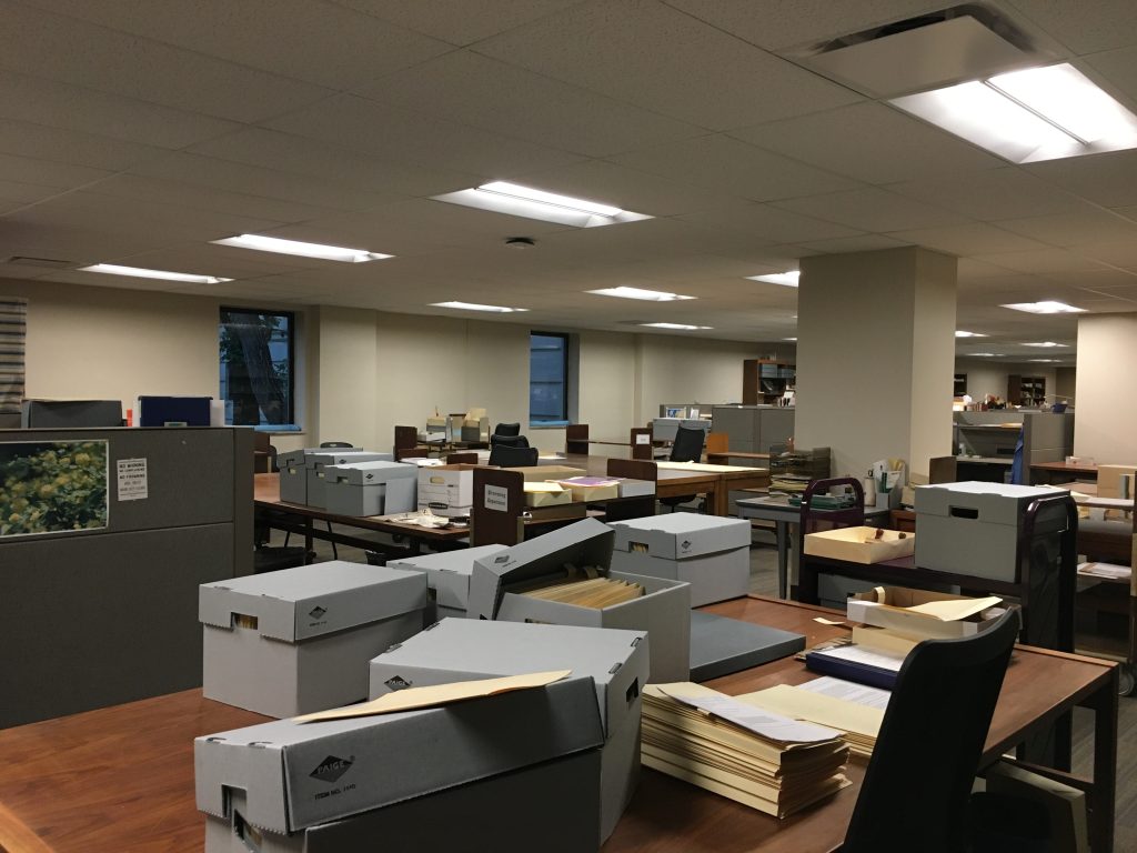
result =
[[[240,834],[252,850],[371,848],[375,836],[363,846],[302,845],[337,837],[346,842],[372,828],[384,829],[379,836],[383,850],[448,850],[451,839],[460,846],[474,819],[471,803],[484,802],[487,790],[493,795],[506,789],[495,782],[497,777],[532,769],[540,784],[509,801],[511,811],[532,808],[540,813],[540,800],[559,805],[562,796],[568,797],[586,811],[568,812],[564,819],[584,822],[591,834],[591,845],[575,850],[595,850],[597,830],[590,814],[598,812],[591,804],[599,800],[599,775],[589,775],[595,764],[561,768],[579,779],[579,798],[578,793],[550,787],[562,773],[539,768],[580,753],[595,755],[603,744],[596,688],[587,677],[399,713],[307,723],[277,720],[196,739],[197,806],[214,818],[210,835],[217,842],[232,843],[229,833]],[[487,781],[489,789],[481,787]],[[422,802],[412,805],[416,800]],[[589,805],[596,812],[587,811]],[[393,811],[384,814],[389,809]],[[429,826],[406,826],[415,815],[429,815]],[[359,822],[338,826],[346,820]],[[508,838],[509,822],[501,820],[500,809],[488,820],[503,842],[520,848]],[[431,834],[435,843],[415,843]]]

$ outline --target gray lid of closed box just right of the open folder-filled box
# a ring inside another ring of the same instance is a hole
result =
[[[750,522],[699,513],[669,513],[614,521],[615,548],[631,550],[646,545],[652,556],[683,560],[750,545]]]

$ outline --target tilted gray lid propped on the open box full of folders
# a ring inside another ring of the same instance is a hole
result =
[[[476,561],[470,581],[470,615],[493,619],[506,587],[563,575],[565,563],[608,569],[614,538],[607,524],[584,519]]]

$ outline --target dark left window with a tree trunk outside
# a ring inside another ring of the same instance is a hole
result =
[[[221,396],[225,423],[296,430],[296,315],[222,308]]]

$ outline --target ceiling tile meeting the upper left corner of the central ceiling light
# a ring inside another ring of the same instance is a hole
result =
[[[517,180],[526,172],[581,159],[554,148],[384,107],[354,96],[330,98],[268,125],[381,159],[472,172],[490,180]]]

